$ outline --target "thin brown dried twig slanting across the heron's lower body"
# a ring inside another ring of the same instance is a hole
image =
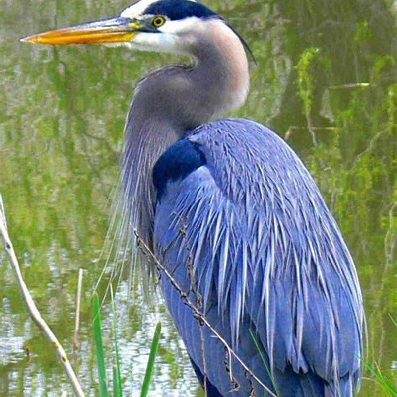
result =
[[[269,393],[273,397],[277,397],[253,372],[250,368],[247,367],[247,365],[244,363],[244,361],[234,352],[234,350],[230,347],[229,343],[218,333],[218,331],[215,330],[215,328],[209,323],[207,318],[201,311],[194,305],[194,303],[187,297],[186,293],[183,291],[183,289],[178,285],[178,283],[175,281],[175,279],[172,277],[171,273],[168,271],[168,269],[156,258],[156,256],[153,254],[153,252],[150,250],[149,246],[141,239],[139,233],[137,230],[134,230],[135,236],[137,238],[138,246],[141,248],[142,252],[154,263],[154,265],[157,267],[159,271],[162,271],[166,277],[171,281],[171,284],[173,287],[178,291],[180,294],[181,298],[183,299],[184,303],[192,310],[193,316],[199,321],[199,324],[205,324],[208,329],[214,334],[214,337],[216,337],[224,346],[225,349],[229,355],[229,359],[231,362],[231,357],[233,356],[236,361],[247,371],[247,373],[255,379],[259,383],[260,386],[264,388],[264,390]],[[231,370],[231,369],[230,369]]]

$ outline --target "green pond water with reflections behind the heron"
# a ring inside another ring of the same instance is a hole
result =
[[[238,115],[270,125],[315,176],[358,268],[368,361],[397,383],[397,5],[380,0],[223,0],[208,4],[251,45],[257,66]],[[102,46],[35,47],[18,39],[116,15],[114,0],[0,0],[0,191],[32,295],[72,357],[75,294],[83,282],[76,365],[97,396],[89,296],[117,180],[133,87],[164,55]],[[308,126],[310,128],[308,128]],[[111,265],[106,269],[111,271]],[[105,276],[106,279],[106,276]],[[54,351],[28,318],[0,247],[0,396],[70,396]],[[143,379],[158,319],[164,335],[151,396],[201,396],[160,297],[118,292],[126,395]],[[105,343],[111,315],[105,303]],[[30,354],[27,355],[25,350]],[[111,356],[108,354],[109,369]],[[360,396],[385,396],[366,372]]]

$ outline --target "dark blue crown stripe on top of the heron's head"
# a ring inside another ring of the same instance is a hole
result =
[[[203,4],[189,0],[160,0],[150,4],[143,14],[165,15],[170,20],[196,16],[198,18],[209,18],[217,14]]]

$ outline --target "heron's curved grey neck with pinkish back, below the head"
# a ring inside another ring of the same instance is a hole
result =
[[[248,92],[247,57],[230,28],[210,21],[205,30],[185,35],[184,44],[194,65],[169,66],[146,76],[135,90],[126,124],[122,215],[128,215],[130,227],[150,244],[154,164],[192,129],[240,106]]]

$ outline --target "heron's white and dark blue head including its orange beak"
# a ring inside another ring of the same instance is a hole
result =
[[[192,54],[198,40],[227,28],[244,40],[219,15],[194,0],[138,0],[119,16],[51,30],[22,39],[34,44],[125,45],[130,48]],[[215,38],[216,39],[216,38]],[[221,37],[218,37],[222,40]]]

